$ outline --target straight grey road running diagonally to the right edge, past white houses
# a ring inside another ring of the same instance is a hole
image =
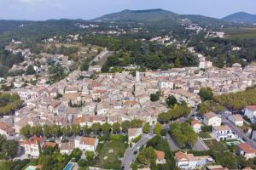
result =
[[[256,150],[256,143],[252,139],[249,139],[247,135],[243,133],[239,127],[236,127],[232,122],[230,122],[227,113],[222,113],[221,119],[222,122],[224,122],[231,128],[233,133],[235,133],[241,139],[246,139],[247,144],[251,145]]]

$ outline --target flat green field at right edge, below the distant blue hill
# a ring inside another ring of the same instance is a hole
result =
[[[224,28],[227,37],[235,38],[256,38],[256,27],[231,27]]]

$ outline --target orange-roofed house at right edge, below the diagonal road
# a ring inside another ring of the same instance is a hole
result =
[[[256,156],[256,150],[254,150],[249,144],[241,143],[237,144],[236,153],[239,156],[244,156],[246,159],[250,159]]]

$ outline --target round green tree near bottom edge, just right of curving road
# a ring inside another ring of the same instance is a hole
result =
[[[137,156],[137,161],[144,166],[149,166],[151,162],[156,161],[155,150],[152,147],[143,148]]]

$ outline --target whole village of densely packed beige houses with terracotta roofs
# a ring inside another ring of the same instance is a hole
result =
[[[189,50],[194,52],[193,48]],[[207,61],[203,55],[195,54],[199,59],[198,67],[174,68],[168,71],[135,71],[132,74],[129,70],[101,73],[101,65],[90,65],[89,71],[72,71],[61,81],[49,84],[49,76],[45,72],[49,69],[46,64],[48,60],[55,60],[66,71],[73,65],[73,60],[64,55],[52,54],[41,54],[41,59],[32,60],[29,49],[12,52],[20,52],[25,56],[25,61],[20,65],[14,65],[10,71],[26,71],[27,65],[37,62],[38,65],[34,65],[33,69],[40,75],[1,78],[4,85],[13,84],[11,93],[18,94],[24,101],[24,106],[15,111],[15,115],[3,116],[0,119],[0,133],[8,139],[19,140],[20,158],[38,157],[40,150],[44,150],[46,146],[55,148],[56,144],[59,145],[61,154],[71,154],[75,148],[96,153],[99,144],[97,136],[101,136],[100,133],[92,136],[89,134],[87,137],[77,134],[67,138],[66,142],[63,140],[65,135],[54,141],[38,136],[26,139],[20,135],[20,130],[28,125],[90,128],[96,123],[102,126],[108,123],[113,126],[117,122],[121,125],[123,122],[138,120],[143,123],[125,132],[128,135],[127,142],[131,143],[131,149],[128,147],[126,151],[130,150],[132,154],[125,152],[128,158],[124,156],[124,159],[132,163],[137,156],[137,151],[133,151],[137,150],[137,144],[143,139],[148,141],[154,138],[154,133],[148,134],[149,136],[143,134],[144,123],[147,122],[152,128],[158,124],[158,116],[169,110],[166,105],[168,96],[174,96],[177,103],[185,102],[192,109],[186,120],[192,117],[190,125],[195,133],[201,133],[204,126],[211,126],[211,131],[207,132],[208,139],[218,142],[228,140],[227,144],[236,144],[237,154],[245,156],[246,159],[256,156],[256,133],[252,129],[247,133],[241,133],[240,127],[247,121],[240,114],[232,115],[231,111],[225,111],[221,115],[207,112],[203,117],[197,114],[198,105],[201,104],[201,87],[211,88],[214,95],[246,90],[256,85],[256,65],[242,68],[236,63],[232,67],[219,69],[213,67],[212,62]],[[99,58],[98,56],[96,58]],[[33,80],[36,82],[30,83]],[[160,99],[152,99],[152,94],[159,94]],[[255,122],[256,106],[248,105],[244,110],[244,115],[251,122]],[[137,138],[139,139],[135,142],[134,139]],[[203,143],[201,150],[209,150],[209,140],[201,136],[198,138]],[[166,162],[163,151],[156,150],[156,155],[157,164]],[[206,169],[225,169],[220,165],[211,165],[214,162],[211,156],[194,156],[186,151],[176,152],[175,161],[181,169],[194,169],[206,165],[209,165]],[[127,162],[123,164],[125,169],[129,169],[126,167]],[[75,164],[71,163],[70,166]]]

